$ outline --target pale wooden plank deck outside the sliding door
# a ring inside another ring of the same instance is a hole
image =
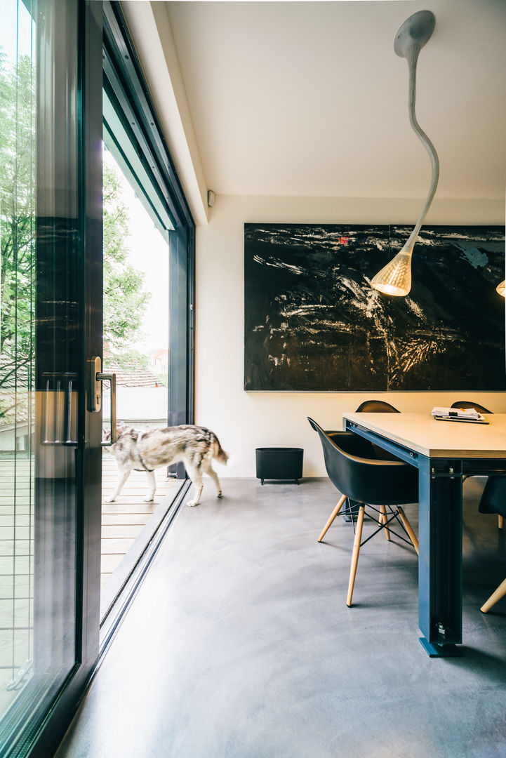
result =
[[[33,459],[0,460],[0,718],[20,691],[8,691],[8,683],[33,656],[34,475]],[[114,490],[116,478],[114,459],[105,455],[103,499]],[[161,500],[181,484],[176,479],[165,481],[164,469],[156,471],[156,479],[154,503],[143,500],[147,490],[144,471],[132,472],[114,503],[102,500],[102,587],[120,566],[151,516],[157,512],[157,518],[161,518],[164,509],[160,506]],[[136,549],[140,552],[142,546],[138,543]],[[118,574],[122,571],[126,572],[125,564]],[[120,585],[120,582],[113,584]],[[110,595],[114,587],[109,590],[105,595]]]

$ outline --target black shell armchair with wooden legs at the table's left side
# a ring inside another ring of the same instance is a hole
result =
[[[372,444],[368,440],[364,440],[363,437],[359,437],[358,434],[349,431],[326,434],[312,418],[308,418],[308,421],[314,431],[320,435],[325,467],[330,481],[342,493],[335,509],[335,515],[339,513],[342,504],[347,499],[356,500],[360,503],[351,555],[348,597],[346,599],[346,604],[351,606],[358,555],[361,546],[370,540],[374,534],[383,528],[386,529],[390,522],[396,520],[404,528],[409,540],[396,532],[394,532],[395,536],[412,544],[418,553],[417,537],[401,508],[401,503],[417,503],[418,501],[418,471],[414,466],[399,460],[379,459]],[[374,534],[362,542],[366,503],[369,503],[367,507],[375,512],[376,515],[373,516],[375,520],[378,518],[378,514],[383,515],[383,523],[379,525]],[[371,503],[373,505],[370,505]],[[379,509],[374,506],[379,506]],[[396,506],[395,510],[392,509],[392,506]],[[386,512],[387,507],[389,514]]]

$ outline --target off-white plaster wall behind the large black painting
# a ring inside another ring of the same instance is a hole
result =
[[[342,412],[362,400],[384,398],[400,411],[429,412],[470,393],[246,393],[243,387],[243,224],[343,223],[413,224],[422,200],[217,196],[209,224],[197,227],[196,423],[220,437],[235,453],[235,468],[223,476],[255,476],[255,448],[300,446],[305,476],[323,476],[323,456],[307,416],[326,429],[342,428]],[[504,224],[504,202],[435,201],[427,224]],[[506,393],[473,393],[492,412],[506,412]]]

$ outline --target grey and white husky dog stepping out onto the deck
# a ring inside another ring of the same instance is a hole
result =
[[[105,439],[111,439],[110,431],[105,433]],[[124,426],[117,430],[117,442],[105,447],[105,450],[114,456],[118,468],[116,489],[106,498],[107,503],[116,500],[132,470],[147,473],[149,491],[145,502],[151,503],[156,489],[155,468],[180,461],[183,461],[189,478],[195,484],[195,496],[189,501],[189,506],[198,505],[204,486],[202,474],[211,477],[217,496],[221,497],[220,481],[211,464],[214,458],[226,463],[229,456],[222,449],[216,434],[205,427],[181,424],[165,429],[137,431]]]

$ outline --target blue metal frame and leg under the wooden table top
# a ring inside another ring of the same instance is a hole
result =
[[[420,642],[429,656],[460,655],[456,646],[462,642],[462,481],[467,476],[506,474],[506,459],[424,456],[365,425],[344,421],[347,431],[418,468]]]

